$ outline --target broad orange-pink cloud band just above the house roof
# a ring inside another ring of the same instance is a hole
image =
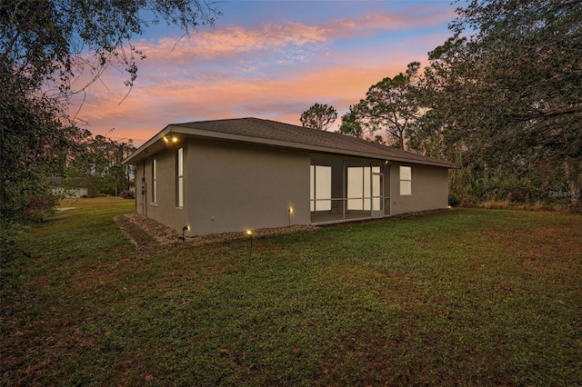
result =
[[[189,120],[256,116],[299,124],[299,116],[312,104],[332,104],[341,115],[366,95],[371,84],[402,70],[399,65],[336,66],[253,82],[230,78],[216,83],[138,84],[121,105],[123,94],[118,91],[94,93],[81,117],[95,134],[115,127],[115,134],[123,133],[136,143],[166,124]]]

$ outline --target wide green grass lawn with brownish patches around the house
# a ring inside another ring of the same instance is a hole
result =
[[[2,260],[2,385],[582,385],[582,217],[460,209],[135,248],[79,200]]]

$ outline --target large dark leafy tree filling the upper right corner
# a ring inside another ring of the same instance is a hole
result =
[[[457,15],[429,56],[433,133],[462,149],[467,170],[497,176],[497,190],[529,182],[531,195],[564,191],[577,204],[582,2],[473,0]]]

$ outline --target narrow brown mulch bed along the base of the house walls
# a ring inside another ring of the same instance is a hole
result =
[[[156,243],[160,245],[166,245],[169,243],[191,243],[206,244],[206,243],[217,243],[232,241],[241,238],[247,238],[245,232],[235,232],[235,233],[213,233],[209,235],[194,236],[192,238],[186,237],[185,241],[180,240],[182,233],[178,233],[173,228],[170,228],[162,223],[158,223],[153,219],[147,218],[139,213],[128,213],[125,215],[120,215],[115,217],[115,223],[119,226],[119,229],[125,233],[125,235],[136,245],[140,245],[139,240],[142,239],[138,235],[135,235],[135,226],[139,228],[140,231],[147,233]],[[133,225],[129,226],[129,225]],[[313,231],[318,227],[312,225],[295,224],[290,227],[276,227],[276,228],[262,228],[253,230],[253,238],[260,238],[267,235],[277,235],[283,233],[296,233],[300,231]],[[142,239],[143,240],[143,239]]]

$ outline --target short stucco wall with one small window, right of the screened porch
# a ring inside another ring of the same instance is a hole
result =
[[[412,194],[400,194],[400,165],[412,168]],[[447,208],[447,168],[419,164],[390,164],[390,214]]]

